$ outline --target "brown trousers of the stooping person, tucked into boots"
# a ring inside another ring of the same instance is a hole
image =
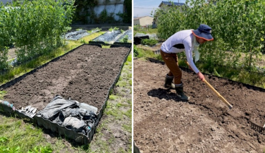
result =
[[[170,77],[174,76],[174,84],[178,85],[181,84],[181,77],[182,77],[182,72],[180,68],[178,67],[178,58],[176,53],[165,53],[160,49],[160,54],[166,63],[167,67],[169,68],[169,73],[168,75]]]

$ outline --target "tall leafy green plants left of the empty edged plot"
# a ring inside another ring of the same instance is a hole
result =
[[[19,62],[62,45],[61,35],[74,12],[73,0],[15,1],[0,9],[0,71],[8,66],[5,47],[10,44],[19,48],[15,52]]]

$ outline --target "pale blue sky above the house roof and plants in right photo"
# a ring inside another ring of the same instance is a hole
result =
[[[134,0],[133,1],[133,15],[136,17],[151,15],[151,11],[158,8],[162,0]],[[168,2],[168,0],[166,0]],[[176,3],[185,3],[185,0],[174,0]],[[141,8],[141,9],[140,9]],[[144,9],[142,9],[144,8]]]

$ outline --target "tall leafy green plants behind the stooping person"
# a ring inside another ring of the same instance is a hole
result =
[[[246,3],[245,0],[228,0],[218,1],[214,5],[211,2],[205,4],[204,0],[191,0],[186,1],[189,7],[181,7],[183,12],[180,12],[177,6],[155,10],[158,36],[166,40],[177,31],[197,29],[200,23],[204,23],[213,29],[212,35],[215,40],[200,46],[200,61],[215,61],[219,65],[237,63],[237,66],[255,66],[259,59],[249,59],[250,56],[261,53],[261,46],[265,43],[265,3]],[[233,52],[233,58],[224,51]],[[244,61],[240,60],[240,53],[246,53]]]

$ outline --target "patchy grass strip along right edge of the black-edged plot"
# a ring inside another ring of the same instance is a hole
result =
[[[130,54],[127,58],[128,65],[124,64],[121,72],[121,80],[117,82],[116,86],[122,84],[123,87],[117,87],[117,91],[115,93],[111,92],[109,99],[107,101],[107,107],[103,111],[104,119],[101,119],[99,126],[97,127],[96,138],[91,142],[91,146],[97,146],[96,148],[91,147],[89,152],[114,152],[112,147],[117,148],[115,152],[132,152],[132,96],[130,92],[130,96],[125,96],[123,89],[131,90],[131,85],[129,85],[129,80],[132,78],[132,55]],[[130,77],[130,79],[128,79]],[[122,83],[121,83],[122,82]],[[109,125],[112,123],[111,125]],[[127,144],[127,151],[123,148],[117,146],[115,144],[114,136],[111,135],[110,138],[106,138],[106,135],[103,132],[106,130],[109,133],[115,132],[113,131],[112,126],[115,124],[116,128],[119,126],[120,130],[126,131],[129,133],[129,142]]]

